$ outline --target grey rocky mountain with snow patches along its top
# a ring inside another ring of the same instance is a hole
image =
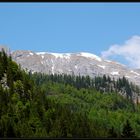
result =
[[[49,53],[29,50],[12,51],[14,61],[28,71],[46,74],[89,75],[90,77],[104,74],[114,79],[125,76],[129,81],[140,85],[140,70],[130,69],[115,61],[105,60],[88,52]]]

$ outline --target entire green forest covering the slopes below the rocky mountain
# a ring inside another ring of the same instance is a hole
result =
[[[133,92],[125,77],[32,74],[2,51],[0,138],[140,138]]]

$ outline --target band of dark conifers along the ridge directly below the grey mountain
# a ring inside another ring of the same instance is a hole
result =
[[[30,75],[32,75],[30,73]],[[109,76],[90,78],[89,76],[74,76],[66,74],[42,74],[34,73],[32,75],[36,85],[43,85],[47,82],[62,83],[70,85],[77,89],[96,89],[100,93],[116,92],[126,97],[127,99],[135,102],[135,98],[139,97],[140,89],[137,85],[130,83],[125,77],[117,80],[111,79]]]

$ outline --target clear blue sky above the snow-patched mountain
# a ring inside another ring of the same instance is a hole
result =
[[[139,36],[140,3],[0,3],[0,44],[11,50],[85,51],[132,66],[109,49]]]

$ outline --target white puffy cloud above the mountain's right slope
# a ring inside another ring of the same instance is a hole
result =
[[[130,67],[140,68],[140,36],[132,36],[122,45],[112,45],[101,54],[103,58],[122,56],[129,63]]]

